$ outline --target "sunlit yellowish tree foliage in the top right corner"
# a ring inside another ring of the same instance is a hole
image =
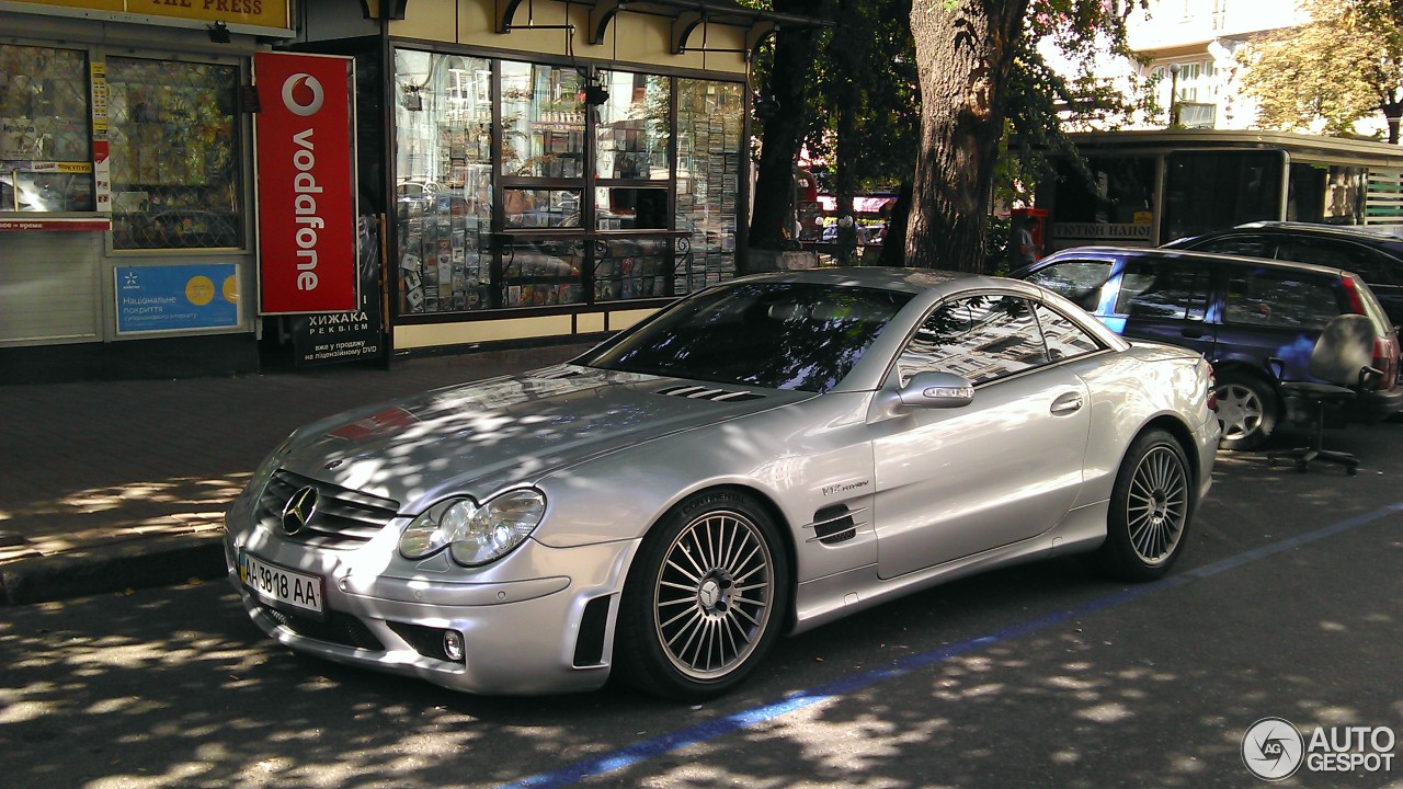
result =
[[[1389,142],[1403,114],[1403,3],[1308,0],[1310,22],[1273,31],[1239,52],[1243,91],[1257,100],[1257,122],[1273,129],[1344,135],[1382,112]]]

